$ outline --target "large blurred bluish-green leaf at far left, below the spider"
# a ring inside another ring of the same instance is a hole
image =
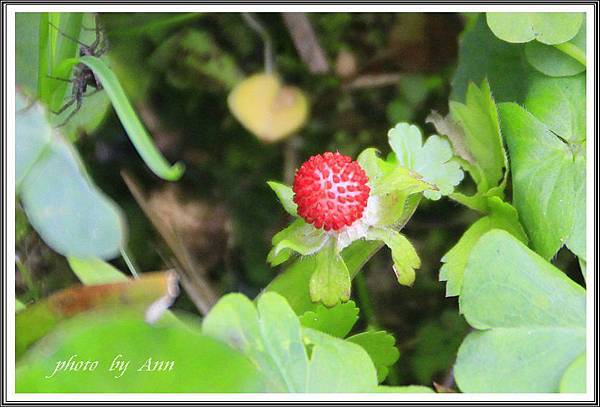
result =
[[[120,209],[90,183],[76,152],[58,138],[23,180],[20,198],[31,225],[64,256],[108,259],[123,246]]]

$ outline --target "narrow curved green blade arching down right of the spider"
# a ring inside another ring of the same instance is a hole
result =
[[[104,91],[112,102],[117,116],[121,120],[123,127],[127,131],[131,142],[137,149],[140,156],[148,167],[159,177],[174,181],[183,175],[183,163],[177,163],[171,166],[161,155],[160,151],[150,138],[150,135],[144,128],[144,125],[133,110],[131,103],[127,99],[121,83],[115,74],[106,66],[104,61],[96,57],[84,56],[79,61],[89,66],[98,76],[104,87]]]

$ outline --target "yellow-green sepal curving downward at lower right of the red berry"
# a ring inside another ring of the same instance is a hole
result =
[[[410,241],[395,230],[383,228],[371,228],[367,239],[381,240],[391,249],[398,282],[412,286],[415,282],[415,269],[421,267],[421,259]]]

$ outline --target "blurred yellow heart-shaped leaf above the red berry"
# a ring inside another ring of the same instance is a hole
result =
[[[229,109],[261,141],[279,141],[306,122],[308,101],[293,86],[284,86],[273,74],[244,79],[229,94]]]

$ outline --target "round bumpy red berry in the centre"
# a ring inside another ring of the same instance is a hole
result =
[[[316,228],[340,230],[362,217],[369,192],[367,174],[340,153],[313,155],[296,172],[298,215]]]

